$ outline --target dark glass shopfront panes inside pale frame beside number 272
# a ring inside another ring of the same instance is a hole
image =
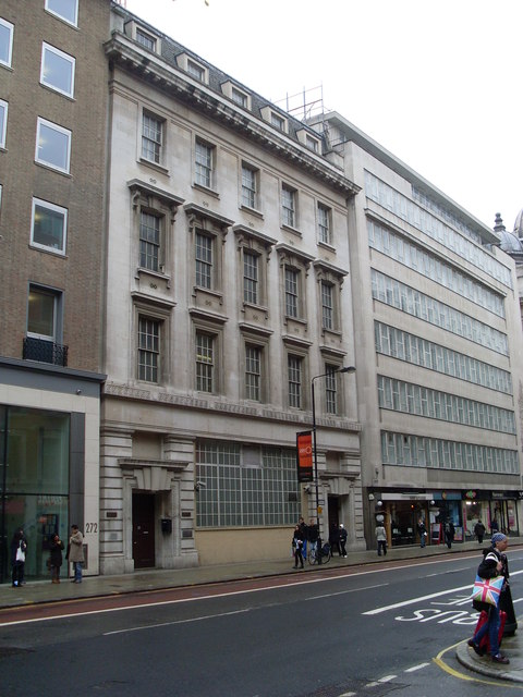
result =
[[[11,573],[11,539],[27,538],[25,575],[47,575],[49,537],[68,538],[70,414],[0,405],[0,582]]]

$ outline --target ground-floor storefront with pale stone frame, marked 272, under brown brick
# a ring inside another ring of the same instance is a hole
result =
[[[49,538],[85,536],[85,573],[98,573],[99,392],[102,376],[0,359],[0,583],[11,539],[27,538],[25,575],[48,575]],[[64,574],[65,572],[62,572]]]

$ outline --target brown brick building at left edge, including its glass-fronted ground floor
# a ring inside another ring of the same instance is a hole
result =
[[[88,5],[88,7],[87,7]],[[0,5],[0,580],[85,534],[98,573],[108,0]]]

